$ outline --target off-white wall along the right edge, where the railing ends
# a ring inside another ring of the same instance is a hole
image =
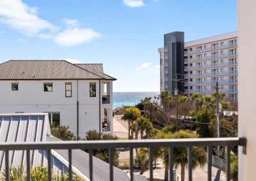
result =
[[[239,137],[247,138],[246,155],[239,148],[239,180],[256,180],[255,33],[256,1],[238,0]]]

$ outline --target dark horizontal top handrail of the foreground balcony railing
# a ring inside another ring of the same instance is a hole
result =
[[[188,139],[148,139],[148,140],[100,140],[100,141],[51,141],[51,142],[0,142],[0,150],[33,149],[98,149],[123,147],[189,147],[215,145],[246,145],[246,138],[188,138]]]

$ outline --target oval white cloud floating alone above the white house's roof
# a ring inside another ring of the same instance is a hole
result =
[[[95,38],[98,38],[100,33],[93,31],[92,29],[79,29],[77,27],[73,29],[66,29],[59,33],[55,38],[54,41],[58,45],[63,46],[74,46],[79,45],[82,43],[88,43]]]

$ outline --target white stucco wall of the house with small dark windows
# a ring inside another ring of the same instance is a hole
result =
[[[19,91],[12,91],[12,83],[14,82],[19,83]],[[52,92],[44,92],[44,82],[53,83]],[[72,98],[65,97],[65,82],[72,82]],[[90,82],[96,82],[97,87],[97,96],[93,98],[89,94]],[[98,131],[100,129],[101,131],[103,107],[111,108],[112,111],[112,82],[110,83],[111,103],[103,106],[101,105],[99,80],[6,80],[1,81],[0,85],[0,113],[60,112],[60,124],[69,126],[70,131],[75,134],[77,134],[78,100],[79,136],[82,137],[90,129],[97,129]],[[109,120],[112,122],[112,117]]]

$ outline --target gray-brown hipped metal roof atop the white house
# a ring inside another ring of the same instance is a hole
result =
[[[111,79],[100,76],[97,64],[88,69],[67,61],[7,61],[0,64],[0,80],[70,80],[70,79]],[[102,68],[103,71],[103,68]],[[104,73],[103,73],[104,75]]]

